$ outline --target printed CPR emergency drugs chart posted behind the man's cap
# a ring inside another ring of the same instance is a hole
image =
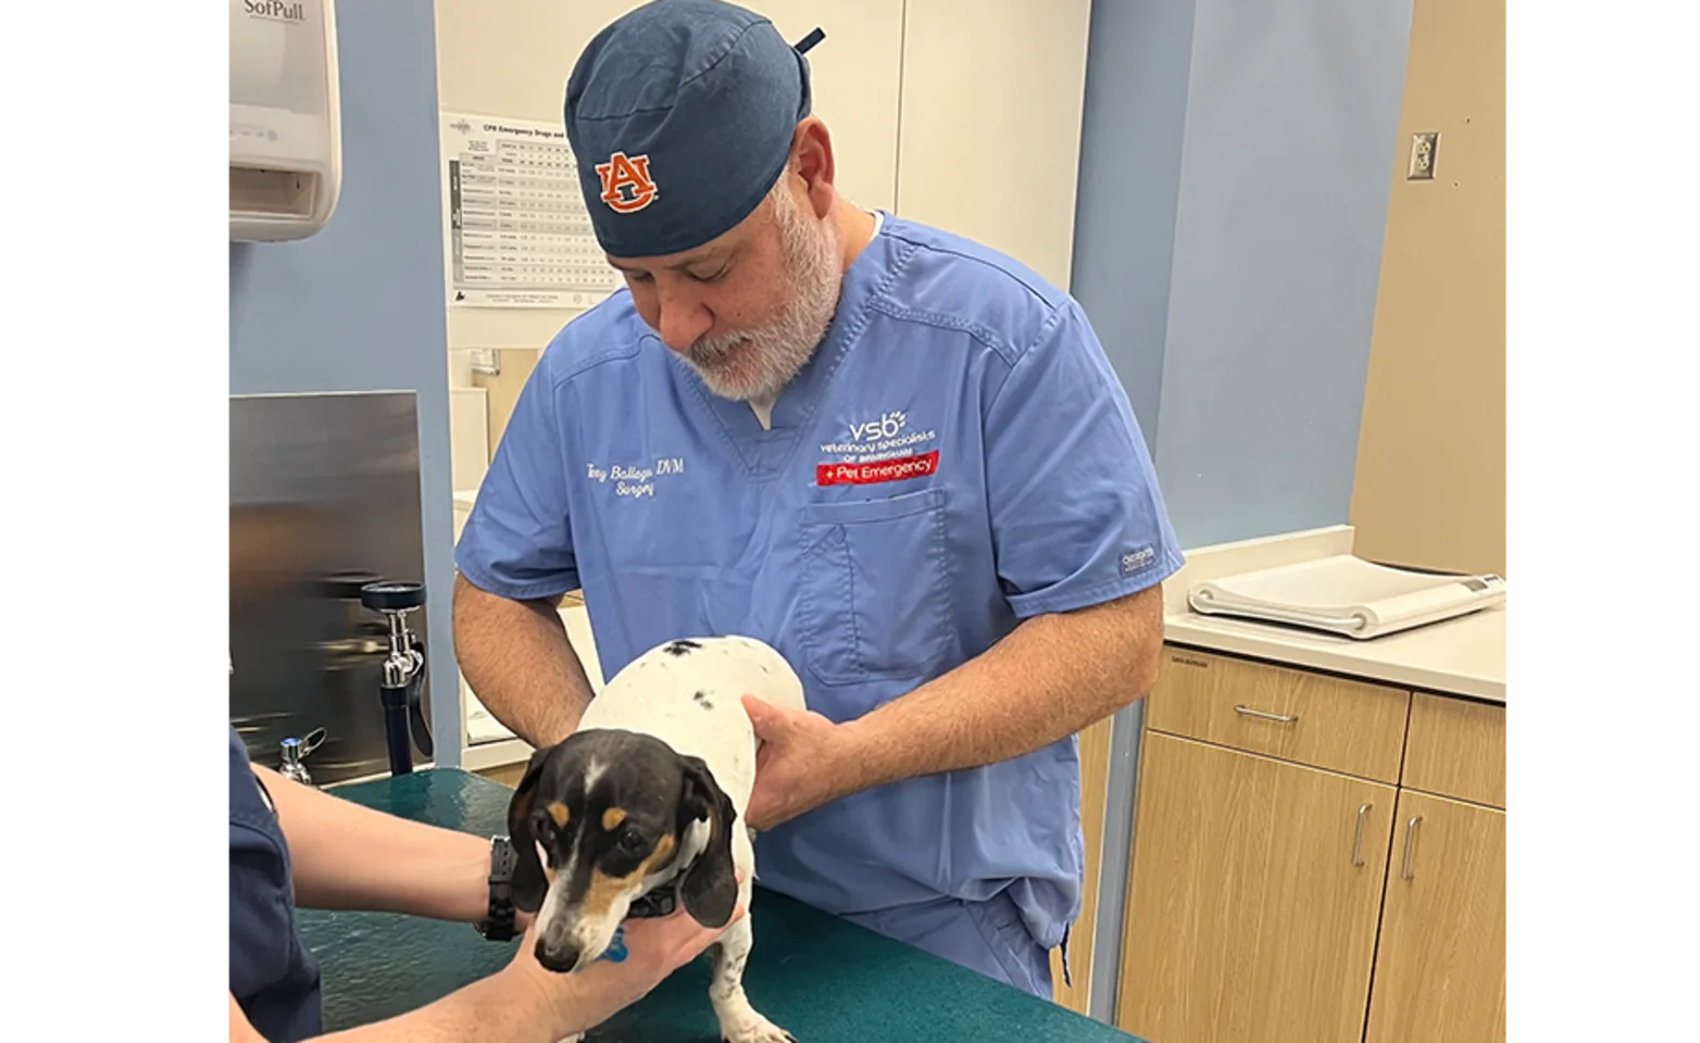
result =
[[[583,309],[622,285],[558,124],[442,114],[450,307]]]

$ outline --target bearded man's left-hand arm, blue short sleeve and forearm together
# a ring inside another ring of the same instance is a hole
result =
[[[578,725],[593,690],[561,622],[578,588],[547,355],[525,381],[454,561],[454,654],[490,715],[534,747]]]

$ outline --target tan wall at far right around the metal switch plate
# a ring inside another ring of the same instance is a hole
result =
[[[1510,0],[1416,0],[1352,496],[1360,557],[1506,579],[1510,51]]]

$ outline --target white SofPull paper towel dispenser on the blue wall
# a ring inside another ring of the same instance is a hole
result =
[[[304,240],[342,194],[333,0],[224,0],[224,238]]]

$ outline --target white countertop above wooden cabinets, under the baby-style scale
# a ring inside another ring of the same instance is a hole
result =
[[[1210,617],[1187,606],[1187,589],[1193,583],[1329,554],[1350,554],[1352,537],[1350,525],[1338,525],[1188,550],[1187,566],[1163,584],[1164,639],[1205,651],[1510,705],[1510,605],[1370,640]]]

